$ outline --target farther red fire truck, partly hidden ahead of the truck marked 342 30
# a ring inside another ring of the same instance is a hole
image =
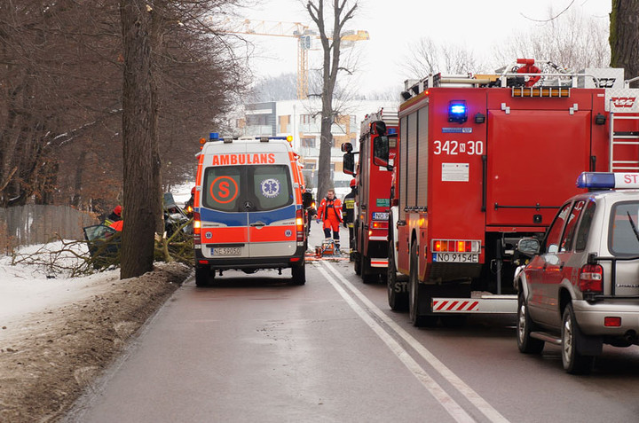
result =
[[[368,114],[361,122],[359,132],[359,164],[357,170],[358,191],[355,196],[354,246],[352,258],[355,273],[364,283],[375,282],[386,276],[388,267],[389,191],[392,172],[373,163],[373,143],[377,137],[385,137],[389,144],[389,160],[397,152],[398,114],[383,109]],[[351,143],[342,145],[344,172],[354,175],[354,157]]]

